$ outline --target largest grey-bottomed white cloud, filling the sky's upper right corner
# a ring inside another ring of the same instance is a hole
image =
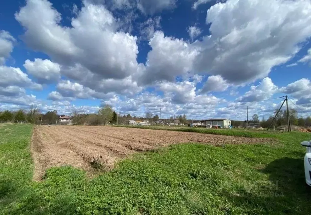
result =
[[[195,42],[198,72],[241,84],[286,63],[311,35],[310,1],[228,0],[207,11],[211,35]]]

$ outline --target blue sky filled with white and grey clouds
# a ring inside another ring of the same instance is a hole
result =
[[[310,0],[14,0],[0,20],[0,110],[311,112]]]

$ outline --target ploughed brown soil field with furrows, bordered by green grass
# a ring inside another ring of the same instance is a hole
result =
[[[108,126],[37,126],[31,144],[34,180],[40,180],[46,169],[63,165],[82,168],[91,176],[94,167],[109,170],[115,161],[134,152],[188,142],[223,145],[272,140]]]

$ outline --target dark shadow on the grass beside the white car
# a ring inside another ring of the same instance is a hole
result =
[[[284,157],[259,170],[269,175],[269,181],[250,181],[237,192],[223,195],[246,213],[308,214],[311,188],[304,178],[304,161]]]

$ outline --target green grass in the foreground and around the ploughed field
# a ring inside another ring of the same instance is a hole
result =
[[[137,130],[139,131],[139,130]],[[51,168],[32,181],[31,125],[0,126],[0,214],[309,214],[308,133],[271,134],[273,145],[174,145],[89,180]],[[267,133],[249,133],[265,136]]]

